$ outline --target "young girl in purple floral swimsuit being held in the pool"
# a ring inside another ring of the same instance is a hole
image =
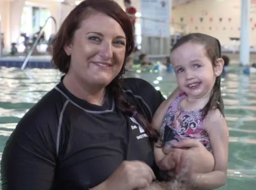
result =
[[[202,33],[182,37],[171,51],[171,64],[178,89],[165,100],[153,117],[152,125],[161,133],[155,144],[155,159],[162,160],[182,139],[198,139],[213,154],[213,168],[189,175],[191,188],[215,189],[226,184],[228,127],[223,114],[220,75],[223,69],[219,40]],[[174,172],[180,174],[180,159]],[[187,159],[187,158],[185,158]],[[190,166],[193,167],[193,166]],[[193,171],[196,171],[194,169]]]

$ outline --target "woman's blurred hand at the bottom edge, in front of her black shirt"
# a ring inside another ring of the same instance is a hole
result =
[[[156,179],[149,165],[142,161],[124,161],[105,181],[105,189],[133,190],[149,187]]]

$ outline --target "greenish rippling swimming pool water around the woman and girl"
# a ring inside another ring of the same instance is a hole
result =
[[[167,96],[175,87],[172,73],[127,72],[140,77]],[[43,94],[58,82],[53,69],[0,68],[0,159],[16,123]],[[228,183],[221,189],[255,189],[256,186],[256,75],[246,76],[232,68],[222,78],[222,93],[229,125]],[[255,149],[254,149],[255,148]],[[1,187],[0,187],[1,189]]]

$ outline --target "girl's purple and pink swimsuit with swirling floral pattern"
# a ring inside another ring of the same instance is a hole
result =
[[[201,110],[184,111],[180,107],[180,101],[186,96],[185,93],[179,94],[165,113],[161,127],[163,143],[172,147],[181,139],[193,138],[202,142],[208,151],[212,151]]]

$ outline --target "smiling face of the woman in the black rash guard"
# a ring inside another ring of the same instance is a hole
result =
[[[84,85],[106,86],[124,64],[126,37],[113,18],[93,13],[81,22],[65,52],[71,56],[68,75]]]

